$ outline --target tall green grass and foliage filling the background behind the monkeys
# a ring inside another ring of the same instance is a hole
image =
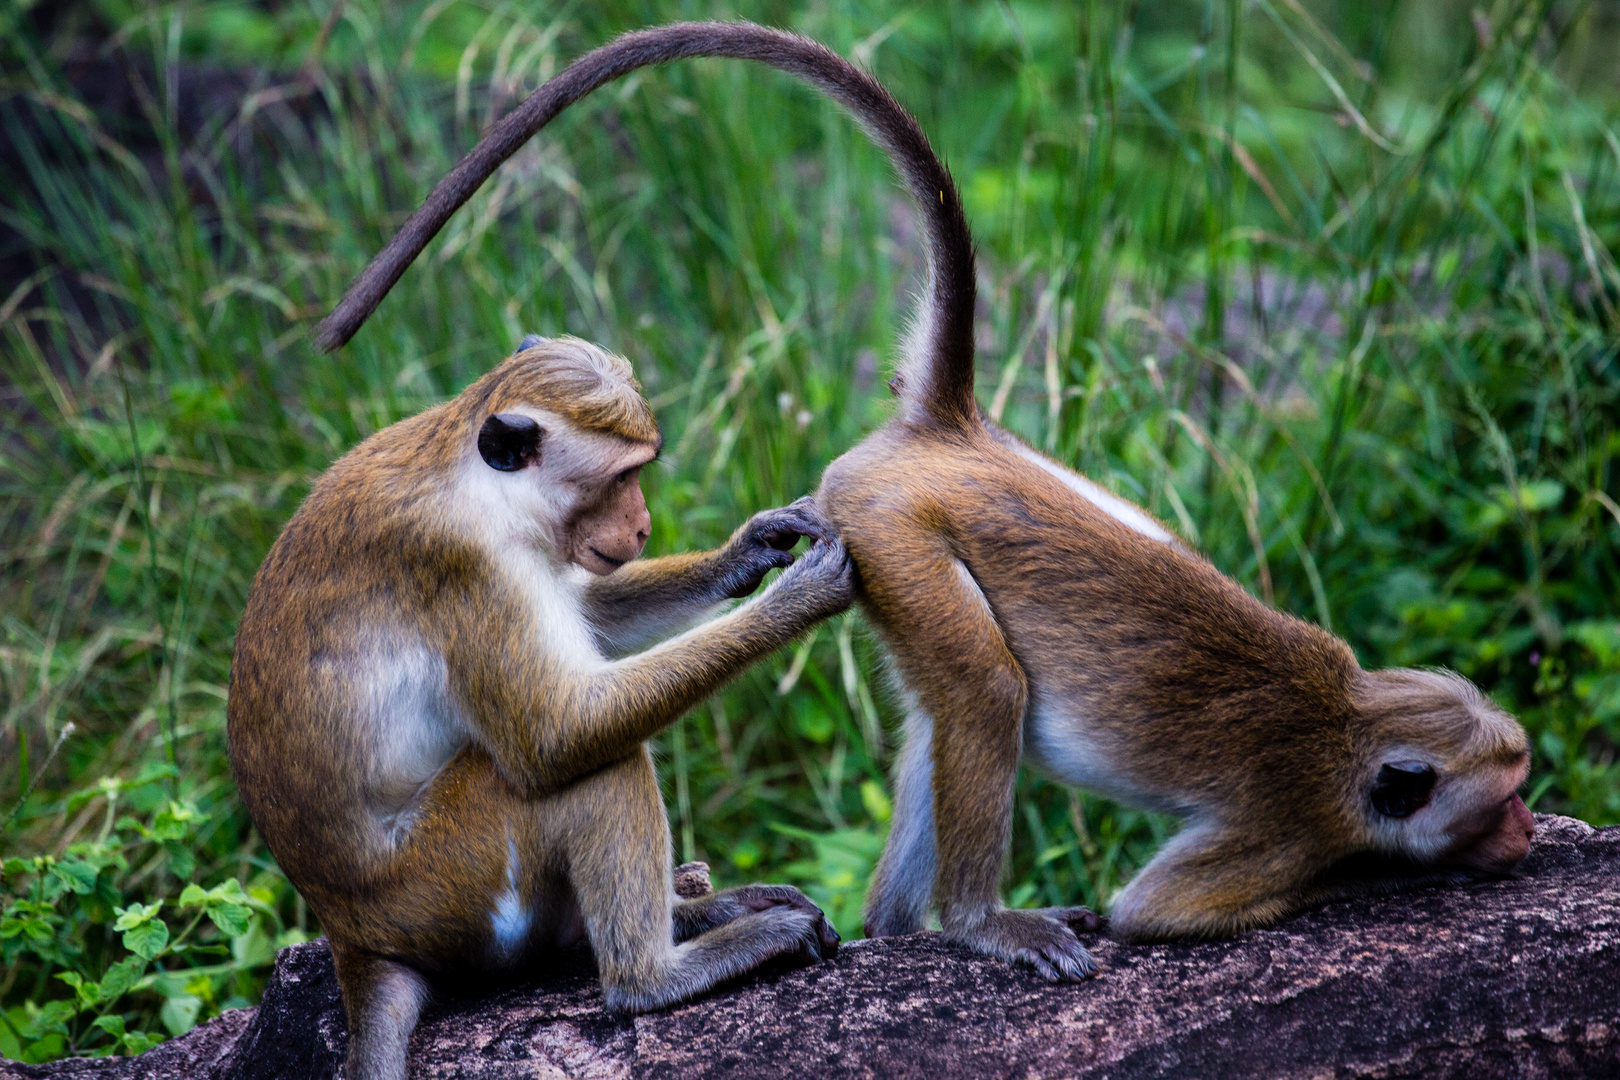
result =
[[[980,400],[1364,664],[1476,678],[1533,733],[1537,810],[1620,821],[1607,10],[807,8],[740,13],[868,63],[962,185]],[[319,933],[224,717],[251,575],[337,455],[522,334],[578,334],[664,426],[659,554],[812,489],[886,415],[919,269],[886,165],[716,62],[577,107],[318,356],[314,319],[491,115],[616,31],[739,10],[352,0],[313,58],[327,13],[0,26],[0,256],[29,274],[0,296],[6,1056],[139,1049]],[[146,73],[133,120],[65,81],[97,34]],[[180,136],[168,87],[211,63],[314,78]],[[894,721],[859,619],[823,625],[658,740],[677,855],[797,881],[855,933]],[[1014,904],[1105,905],[1171,827],[1037,777],[1017,800]]]

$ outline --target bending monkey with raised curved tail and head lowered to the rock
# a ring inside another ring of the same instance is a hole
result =
[[[828,466],[818,505],[860,573],[907,704],[894,824],[867,933],[920,929],[1076,980],[1082,908],[1008,910],[1000,878],[1021,756],[1184,818],[1113,908],[1129,941],[1220,936],[1432,870],[1500,873],[1529,847],[1529,748],[1458,675],[1362,670],[1152,515],[990,424],[974,400],[974,249],[915,120],[804,37],[744,23],[637,31],[539,87],[434,189],[321,325],[345,342],[444,220],[564,107],[632,68],[752,58],[849,108],[919,206],[928,285],[899,413]],[[1358,860],[1377,873],[1351,873]]]

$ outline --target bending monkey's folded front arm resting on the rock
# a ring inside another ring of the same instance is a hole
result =
[[[1314,860],[1189,824],[1142,868],[1108,916],[1123,941],[1226,938],[1268,926],[1306,902]]]

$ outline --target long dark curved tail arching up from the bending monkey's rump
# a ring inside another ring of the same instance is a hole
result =
[[[332,351],[347,343],[450,215],[564,108],[637,68],[684,57],[757,60],[799,76],[847,108],[888,152],[917,199],[928,236],[928,287],[901,371],[901,402],[912,419],[951,427],[975,423],[974,240],[951,173],[917,120],[881,83],[820,42],[753,23],[672,23],[633,31],[548,79],[439,181],[316,327],[316,345]]]

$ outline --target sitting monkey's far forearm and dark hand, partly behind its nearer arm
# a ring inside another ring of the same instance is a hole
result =
[[[685,630],[727,599],[748,596],[766,573],[789,567],[800,536],[821,539],[833,526],[810,499],[761,510],[724,547],[637,560],[596,578],[585,591],[585,614],[608,656],[645,649]]]

